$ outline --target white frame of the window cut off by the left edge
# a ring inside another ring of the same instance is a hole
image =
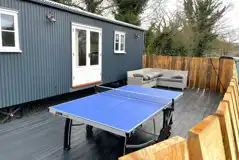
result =
[[[19,28],[18,28],[18,12],[0,8],[0,16],[1,14],[6,14],[14,17],[14,39],[15,39],[15,46],[14,47],[5,47],[2,46],[2,28],[1,28],[1,17],[0,17],[0,52],[22,52],[20,50],[20,43],[19,43]]]

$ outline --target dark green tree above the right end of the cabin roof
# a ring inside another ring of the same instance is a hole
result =
[[[113,0],[116,11],[113,12],[115,19],[140,25],[140,14],[143,13],[148,0]]]

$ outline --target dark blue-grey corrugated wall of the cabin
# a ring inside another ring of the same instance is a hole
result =
[[[143,31],[22,0],[0,0],[0,7],[19,11],[22,50],[0,53],[0,108],[71,91],[72,22],[102,28],[103,83],[142,67]],[[49,12],[56,15],[55,23],[46,19]],[[126,32],[126,55],[113,53],[115,30]]]

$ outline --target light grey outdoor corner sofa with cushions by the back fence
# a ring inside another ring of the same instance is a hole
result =
[[[172,87],[184,90],[187,87],[188,71],[144,68],[127,72],[127,83],[144,87]]]

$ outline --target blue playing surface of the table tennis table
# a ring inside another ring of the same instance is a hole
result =
[[[162,103],[151,103],[149,101],[109,94],[111,91],[107,91],[51,108],[129,133],[152,115],[161,111],[172,99],[182,95],[182,92],[132,85],[120,87],[119,89],[165,97],[166,100]]]

